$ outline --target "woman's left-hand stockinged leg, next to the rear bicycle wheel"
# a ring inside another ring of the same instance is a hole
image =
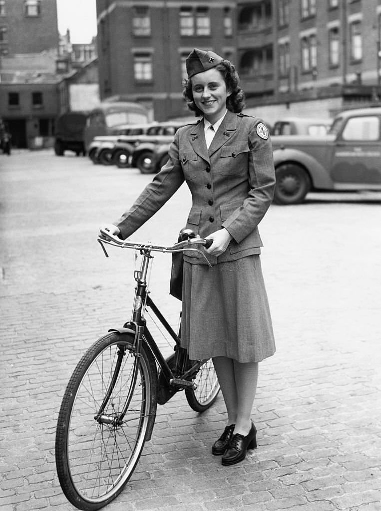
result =
[[[237,419],[238,398],[234,377],[234,360],[227,357],[213,357],[213,365],[221,387],[223,400],[228,411],[228,424],[235,424]]]

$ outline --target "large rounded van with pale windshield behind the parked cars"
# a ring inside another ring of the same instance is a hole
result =
[[[88,114],[84,129],[85,149],[88,152],[96,136],[117,134],[121,125],[147,123],[148,113],[139,103],[104,101]]]

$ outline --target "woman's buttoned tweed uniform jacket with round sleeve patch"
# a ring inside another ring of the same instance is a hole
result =
[[[272,144],[261,124],[259,118],[228,110],[209,150],[203,121],[178,129],[166,165],[115,222],[119,236],[125,239],[134,233],[185,180],[192,194],[186,227],[201,238],[225,227],[233,237],[223,254],[208,255],[211,264],[260,253],[258,224],[275,188]],[[184,259],[206,264],[191,251],[185,252]]]

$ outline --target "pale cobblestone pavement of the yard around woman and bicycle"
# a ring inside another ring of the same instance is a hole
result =
[[[132,254],[104,258],[97,229],[151,177],[50,151],[0,155],[2,511],[73,509],[54,459],[64,387],[131,307]],[[159,407],[135,474],[107,509],[381,509],[380,202],[375,193],[310,194],[270,208],[262,267],[277,353],[260,364],[258,448],[222,467],[211,455],[222,398],[198,415],[180,392]],[[189,204],[182,187],[133,239],[175,241]],[[158,255],[151,290],[176,324],[169,268]]]

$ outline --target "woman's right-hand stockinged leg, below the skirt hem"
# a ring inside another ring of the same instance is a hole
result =
[[[233,360],[233,366],[237,396],[234,433],[246,436],[251,428],[251,413],[258,381],[258,362],[237,362]]]

